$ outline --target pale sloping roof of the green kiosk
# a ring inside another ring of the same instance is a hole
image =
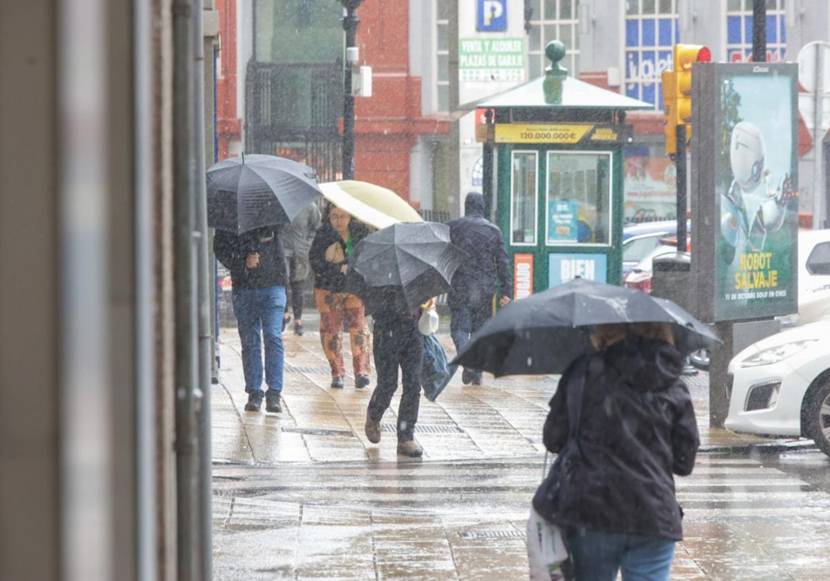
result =
[[[645,101],[620,95],[613,90],[603,89],[571,76],[552,77],[550,75],[540,76],[538,79],[506,90],[499,95],[479,100],[476,106],[488,109],[533,107],[593,110],[654,109],[654,105]],[[551,91],[546,86],[546,84],[554,83],[561,83],[561,93],[559,90]]]

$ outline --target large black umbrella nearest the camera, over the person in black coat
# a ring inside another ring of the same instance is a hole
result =
[[[720,340],[670,300],[578,278],[499,310],[452,363],[496,377],[559,374],[593,349],[591,326],[648,322],[670,324],[681,354]]]

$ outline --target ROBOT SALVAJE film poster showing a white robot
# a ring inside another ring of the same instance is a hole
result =
[[[715,75],[715,320],[797,310],[798,153],[793,66]]]

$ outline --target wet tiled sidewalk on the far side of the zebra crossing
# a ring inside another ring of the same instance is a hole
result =
[[[332,389],[329,365],[320,336],[307,321],[304,337],[285,334],[286,374],[283,413],[246,413],[245,382],[236,330],[221,333],[220,384],[212,390],[213,458],[215,461],[271,464],[281,461],[397,460],[394,427],[400,393],[383,417],[383,438],[371,444],[364,434],[369,388],[354,388],[347,375],[344,389]],[[454,354],[452,340],[439,337]],[[348,341],[346,341],[348,344]],[[347,345],[348,347],[348,345]],[[351,368],[349,354],[345,355]],[[416,439],[425,459],[452,460],[486,457],[538,456],[544,453],[542,426],[558,377],[494,379],[484,385],[461,384],[457,373],[436,403],[422,398]],[[735,434],[709,426],[708,376],[686,378],[694,399],[701,448],[740,451],[748,446],[786,445]],[[264,407],[263,407],[264,409]]]

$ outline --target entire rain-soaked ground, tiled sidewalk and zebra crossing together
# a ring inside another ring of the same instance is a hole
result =
[[[245,413],[234,336],[212,391],[214,579],[527,579],[525,519],[543,476],[540,433],[555,383],[453,383],[422,403],[422,461],[393,432],[363,434],[371,390],[330,389],[315,335],[286,342],[284,413]],[[830,459],[762,453],[709,429],[677,479],[686,540],[672,579],[828,579]],[[398,398],[393,403],[397,408]],[[390,411],[383,418],[393,429]],[[609,507],[613,510],[613,507]]]

